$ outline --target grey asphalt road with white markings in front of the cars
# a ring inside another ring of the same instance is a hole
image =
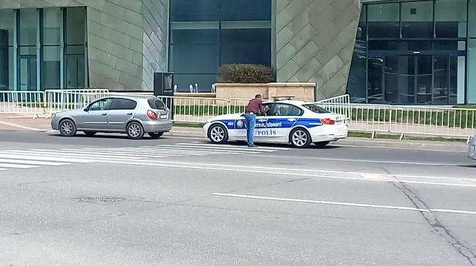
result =
[[[475,165],[0,132],[0,265],[476,265]]]

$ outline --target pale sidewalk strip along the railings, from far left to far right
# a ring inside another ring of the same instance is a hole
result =
[[[51,131],[51,119],[39,117],[32,119],[32,116],[22,116],[19,114],[0,114],[0,131]],[[197,127],[173,127],[167,136],[183,136],[192,138],[204,138],[201,128]],[[411,150],[433,150],[444,152],[467,152],[468,145],[463,142],[445,142],[445,141],[399,141],[395,139],[367,139],[367,138],[348,138],[337,141],[337,145],[359,146],[359,147],[387,147],[393,149],[411,149]]]

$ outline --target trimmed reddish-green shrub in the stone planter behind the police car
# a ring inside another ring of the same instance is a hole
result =
[[[218,81],[221,83],[272,83],[276,71],[265,65],[221,65]]]

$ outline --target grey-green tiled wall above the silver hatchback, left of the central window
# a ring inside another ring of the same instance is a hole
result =
[[[167,69],[169,0],[1,0],[0,8],[88,6],[90,86],[152,90]]]

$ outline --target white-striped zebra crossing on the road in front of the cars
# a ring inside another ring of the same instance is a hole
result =
[[[1,150],[0,171],[59,167],[72,163],[121,163],[130,161],[226,154],[262,154],[290,150],[286,147],[248,148],[204,142],[175,143],[141,147],[95,147],[32,150]]]

